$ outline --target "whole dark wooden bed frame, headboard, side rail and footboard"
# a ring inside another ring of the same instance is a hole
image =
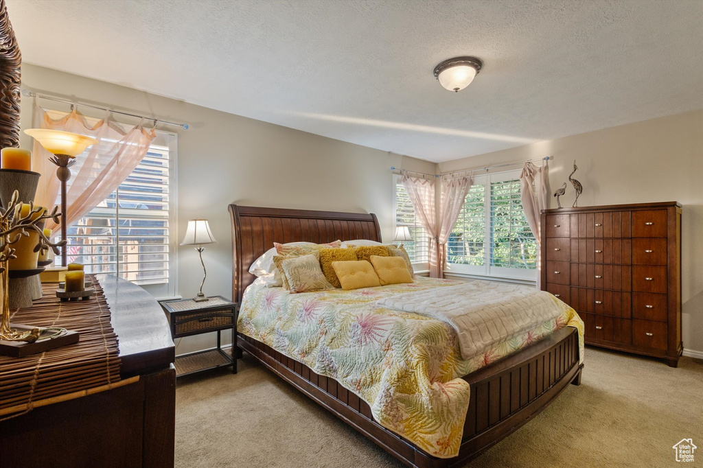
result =
[[[233,301],[255,277],[249,266],[273,242],[381,240],[374,214],[314,212],[229,205],[232,218]],[[411,467],[455,467],[493,446],[546,408],[569,383],[581,383],[579,337],[565,327],[527,348],[463,377],[469,410],[458,457],[440,459],[373,420],[369,405],[297,360],[262,342],[237,335],[236,344],[323,408]]]

